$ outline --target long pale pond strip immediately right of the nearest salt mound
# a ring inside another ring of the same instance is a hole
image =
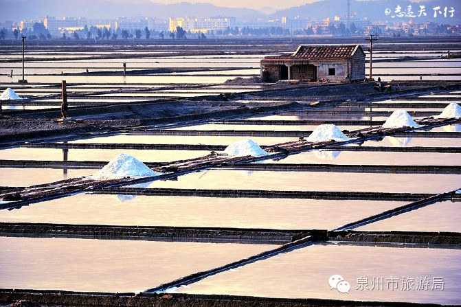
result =
[[[364,191],[441,193],[458,189],[458,174],[367,174],[340,172],[286,172],[208,170],[153,181],[149,187],[242,190]]]

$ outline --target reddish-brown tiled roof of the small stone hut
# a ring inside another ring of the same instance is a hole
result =
[[[293,58],[352,58],[359,45],[355,46],[303,46],[297,48]]]

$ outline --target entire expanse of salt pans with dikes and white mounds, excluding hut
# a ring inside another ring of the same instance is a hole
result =
[[[259,82],[303,43],[30,45],[27,83],[8,45],[0,299],[461,305],[460,43],[376,42],[385,93]]]

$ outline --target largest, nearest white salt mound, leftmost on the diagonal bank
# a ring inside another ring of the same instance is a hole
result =
[[[104,168],[93,175],[94,179],[116,179],[123,177],[151,177],[160,173],[154,172],[135,157],[121,153]]]

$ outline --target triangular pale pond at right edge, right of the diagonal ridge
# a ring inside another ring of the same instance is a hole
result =
[[[460,186],[461,187],[461,186]],[[461,233],[461,203],[443,201],[392,218],[357,227],[364,231],[450,231]]]

